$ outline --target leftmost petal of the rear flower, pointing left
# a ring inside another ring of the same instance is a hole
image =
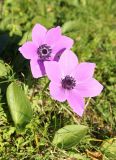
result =
[[[26,59],[32,59],[34,57],[38,57],[37,55],[37,47],[33,42],[26,42],[19,48],[20,53]]]

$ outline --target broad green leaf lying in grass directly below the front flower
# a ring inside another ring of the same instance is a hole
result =
[[[53,144],[64,149],[77,145],[88,130],[84,125],[67,125],[59,129],[53,139]]]

